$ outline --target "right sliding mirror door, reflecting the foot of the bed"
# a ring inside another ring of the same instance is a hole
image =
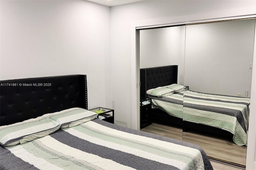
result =
[[[241,167],[246,165],[254,34],[255,19],[186,26],[183,141]]]

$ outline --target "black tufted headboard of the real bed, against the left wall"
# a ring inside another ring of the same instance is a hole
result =
[[[88,109],[86,75],[0,81],[0,126],[72,107]]]

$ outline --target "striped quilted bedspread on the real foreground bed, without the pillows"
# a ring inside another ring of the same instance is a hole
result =
[[[211,170],[198,146],[94,119],[36,140],[0,147],[0,169]]]

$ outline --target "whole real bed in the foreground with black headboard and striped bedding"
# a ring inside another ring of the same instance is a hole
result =
[[[212,169],[198,146],[96,119],[86,75],[0,85],[0,169]]]

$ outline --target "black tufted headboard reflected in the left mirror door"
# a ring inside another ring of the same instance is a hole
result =
[[[140,69],[140,97],[146,97],[148,89],[171,85],[177,81],[178,65]]]

